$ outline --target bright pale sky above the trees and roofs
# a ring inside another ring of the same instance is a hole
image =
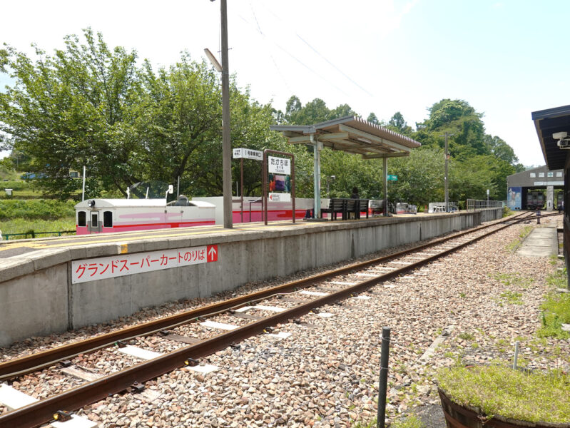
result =
[[[220,49],[220,1],[6,1],[0,42],[52,53],[91,26],[168,66]],[[415,127],[442,98],[484,113],[524,165],[544,165],[531,111],[570,104],[568,0],[229,0],[230,72],[260,103],[292,95],[396,111]],[[10,84],[0,74],[0,86]]]

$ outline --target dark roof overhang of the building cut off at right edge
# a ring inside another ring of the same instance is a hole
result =
[[[549,170],[564,168],[569,151],[561,150],[552,134],[565,131],[570,136],[570,106],[533,111],[532,120]]]

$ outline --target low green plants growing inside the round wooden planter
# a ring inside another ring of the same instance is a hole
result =
[[[440,370],[437,382],[454,402],[479,407],[487,417],[551,423],[570,420],[570,379],[561,372],[457,366]]]

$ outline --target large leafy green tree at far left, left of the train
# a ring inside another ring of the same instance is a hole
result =
[[[39,187],[67,198],[81,186],[70,170],[88,166],[103,188],[124,188],[137,178],[128,167],[137,141],[133,106],[138,101],[136,52],[111,51],[101,34],[66,37],[66,48],[36,61],[6,47],[4,68],[16,85],[0,93],[3,148],[29,156],[20,165],[38,173]]]

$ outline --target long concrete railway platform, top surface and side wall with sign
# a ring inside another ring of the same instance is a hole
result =
[[[472,228],[501,211],[4,242],[0,346]]]

